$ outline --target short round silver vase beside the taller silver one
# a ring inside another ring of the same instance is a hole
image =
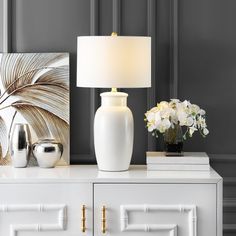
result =
[[[33,154],[41,168],[53,168],[61,159],[63,145],[54,139],[39,140],[33,144]]]

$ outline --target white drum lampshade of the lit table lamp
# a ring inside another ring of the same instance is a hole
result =
[[[150,37],[82,36],[77,45],[77,86],[151,87]]]

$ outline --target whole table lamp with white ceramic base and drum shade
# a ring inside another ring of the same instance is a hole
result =
[[[127,93],[117,88],[151,87],[151,38],[80,36],[77,38],[77,86],[111,88],[101,93],[94,117],[94,147],[99,170],[129,168],[134,139]]]

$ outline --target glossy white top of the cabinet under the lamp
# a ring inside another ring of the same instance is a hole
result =
[[[147,171],[145,165],[130,166],[129,171],[103,172],[96,165],[39,167],[0,167],[0,183],[217,183],[222,178],[210,171]]]

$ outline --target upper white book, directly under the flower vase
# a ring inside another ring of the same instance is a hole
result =
[[[205,152],[184,152],[183,156],[165,156],[164,152],[147,152],[146,163],[209,165],[209,157]]]

